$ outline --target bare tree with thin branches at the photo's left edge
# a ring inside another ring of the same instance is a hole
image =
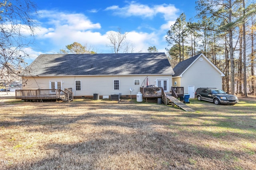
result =
[[[0,86],[19,81],[28,55],[23,51],[34,41],[36,6],[30,0],[0,2]]]

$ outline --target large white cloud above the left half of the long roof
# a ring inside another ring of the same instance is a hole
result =
[[[93,29],[100,29],[100,23],[92,23],[84,14],[40,11],[44,24],[36,28],[38,39],[48,39],[58,49],[75,41],[90,45],[106,44],[106,37]],[[45,45],[45,44],[44,44]],[[55,52],[58,52],[55,50]]]

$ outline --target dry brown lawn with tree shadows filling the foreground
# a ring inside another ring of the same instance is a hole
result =
[[[256,100],[196,112],[106,100],[0,96],[0,169],[256,169]]]

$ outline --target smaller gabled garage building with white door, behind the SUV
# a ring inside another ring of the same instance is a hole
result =
[[[222,76],[225,76],[202,53],[178,63],[173,68],[172,86],[184,87],[184,94],[194,98],[199,87],[222,88]]]

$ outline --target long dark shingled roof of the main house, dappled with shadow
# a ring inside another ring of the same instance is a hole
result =
[[[164,53],[43,54],[24,76],[174,74]]]

